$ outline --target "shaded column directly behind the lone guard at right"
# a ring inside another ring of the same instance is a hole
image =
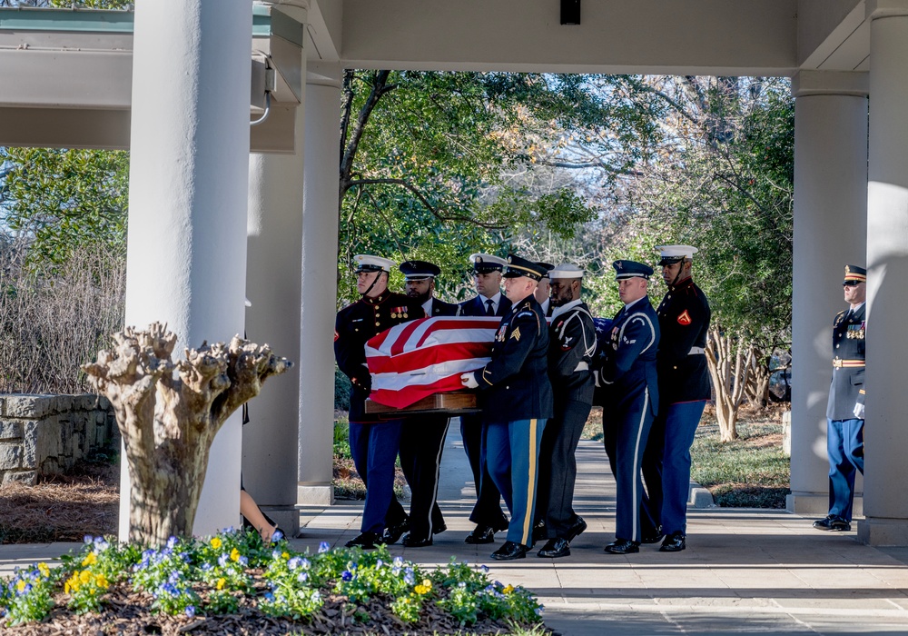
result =
[[[797,514],[825,516],[829,508],[826,399],[833,373],[832,324],[845,308],[844,265],[864,263],[867,86],[865,73],[802,71],[792,81],[795,266],[787,506]],[[860,511],[858,498],[855,512]]]

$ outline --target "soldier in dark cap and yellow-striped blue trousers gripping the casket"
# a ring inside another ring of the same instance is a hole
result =
[[[508,541],[491,555],[498,561],[524,558],[533,542],[539,443],[552,416],[548,325],[533,296],[544,274],[538,264],[508,256],[511,309],[501,318],[490,362],[461,376],[464,386],[479,388],[489,474],[511,514]]]

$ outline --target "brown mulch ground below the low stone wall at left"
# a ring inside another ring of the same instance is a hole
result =
[[[86,534],[116,534],[120,468],[77,462],[63,475],[35,486],[0,487],[0,543],[82,541]]]

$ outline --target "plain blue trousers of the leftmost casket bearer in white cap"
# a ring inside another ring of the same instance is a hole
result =
[[[360,532],[381,533],[394,500],[394,462],[400,449],[400,420],[350,422],[350,454],[366,484]],[[398,503],[400,507],[400,503]]]

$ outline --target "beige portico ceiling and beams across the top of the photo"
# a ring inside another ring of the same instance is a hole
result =
[[[579,25],[560,24],[558,0],[279,0],[272,5],[275,15],[306,15],[300,41],[310,75],[320,75],[322,66],[335,73],[347,67],[795,75],[808,69],[868,70],[865,4],[883,1],[582,0]],[[256,10],[267,13],[263,7]],[[46,24],[29,25],[25,12],[0,8],[0,144],[127,147],[132,15],[41,11]],[[279,57],[284,63],[291,59],[292,39],[280,29],[256,36],[254,112],[261,112],[265,66]],[[300,96],[291,78],[301,69],[291,66],[278,75],[271,121],[252,131],[253,148],[291,150],[281,142],[292,137],[291,109]]]

